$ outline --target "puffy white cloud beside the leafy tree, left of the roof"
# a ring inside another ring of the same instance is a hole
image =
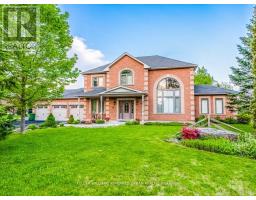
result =
[[[75,66],[82,72],[108,63],[108,61],[105,60],[104,54],[100,50],[88,48],[85,39],[81,37],[75,36],[73,38],[72,48],[68,52],[68,55],[73,56],[74,54],[78,57]],[[76,83],[70,84],[66,89],[81,87],[83,87],[82,75],[77,78]]]

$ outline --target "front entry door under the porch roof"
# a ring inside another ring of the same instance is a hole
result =
[[[134,101],[133,100],[119,101],[119,119],[123,119],[123,120],[134,119]]]

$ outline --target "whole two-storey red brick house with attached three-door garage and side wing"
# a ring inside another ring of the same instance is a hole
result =
[[[122,54],[112,63],[83,72],[83,88],[66,90],[50,104],[40,102],[36,119],[53,113],[58,121],[70,115],[90,123],[95,119],[194,121],[200,115],[225,118],[232,90],[194,85],[197,65],[162,56]]]

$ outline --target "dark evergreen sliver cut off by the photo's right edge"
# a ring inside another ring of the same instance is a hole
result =
[[[256,6],[254,7],[253,14],[254,21],[252,22],[252,42],[251,42],[251,52],[252,52],[252,76],[253,76],[253,99],[251,104],[252,110],[252,121],[253,128],[256,129]]]

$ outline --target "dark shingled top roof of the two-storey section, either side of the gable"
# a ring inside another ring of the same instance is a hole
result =
[[[196,64],[183,62],[179,60],[174,60],[171,58],[163,57],[163,56],[141,56],[141,57],[135,57],[139,61],[145,63],[149,66],[149,69],[177,69],[177,68],[187,68],[187,67],[196,67]],[[84,74],[91,74],[91,73],[101,73],[104,72],[104,70],[107,68],[109,64],[96,67],[94,69],[90,69]]]

